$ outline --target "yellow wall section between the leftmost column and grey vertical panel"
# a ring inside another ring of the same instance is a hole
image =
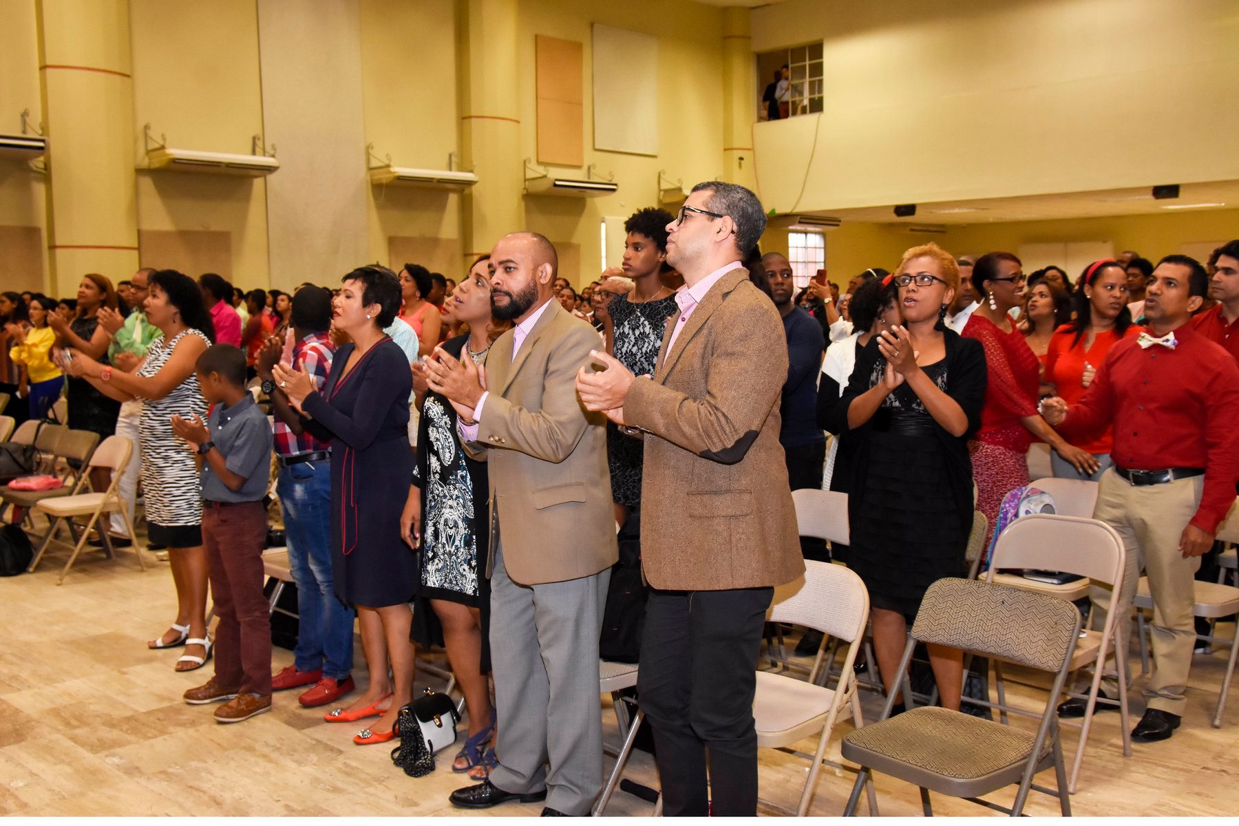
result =
[[[249,154],[252,136],[263,131],[254,0],[176,4],[175,9],[162,0],[129,0],[129,6],[135,163],[145,162],[142,126],[147,123],[156,135],[167,135],[169,146]],[[140,234],[227,233],[233,282],[240,287],[270,284],[263,178],[140,171],[138,228]],[[208,260],[203,254],[191,263],[201,270]],[[159,266],[146,259],[144,264]]]

